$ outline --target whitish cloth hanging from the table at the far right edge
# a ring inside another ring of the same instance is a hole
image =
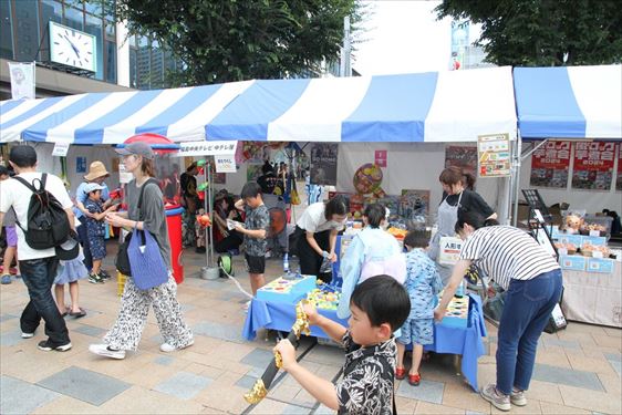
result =
[[[568,320],[622,328],[622,263],[612,273],[563,270],[561,309]]]

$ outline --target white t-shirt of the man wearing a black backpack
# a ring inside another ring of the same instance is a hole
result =
[[[22,173],[19,177],[22,177],[28,183],[32,183],[35,178],[41,179],[41,173]],[[73,206],[63,181],[59,177],[48,174],[45,189],[54,195],[63,208],[68,209]],[[28,207],[31,196],[32,191],[22,183],[13,179],[4,180],[0,183],[0,211],[7,214],[12,206],[19,222],[25,228],[28,226]],[[32,249],[25,242],[25,236],[20,226],[18,225],[15,228],[18,230],[18,256],[20,261],[54,257],[56,255],[54,248]]]

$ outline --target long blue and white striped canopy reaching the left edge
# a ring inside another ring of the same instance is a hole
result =
[[[247,81],[0,104],[0,142],[475,142],[516,136],[510,68],[405,75]]]

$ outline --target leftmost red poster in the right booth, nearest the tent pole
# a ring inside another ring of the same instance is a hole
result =
[[[570,142],[547,142],[531,155],[531,186],[564,189],[570,168]]]

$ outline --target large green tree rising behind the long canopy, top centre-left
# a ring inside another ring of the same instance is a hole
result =
[[[114,1],[114,0],[106,0]],[[108,3],[111,4],[111,3]],[[339,59],[343,19],[359,0],[116,0],[131,34],[148,34],[184,63],[175,85],[277,79]]]

